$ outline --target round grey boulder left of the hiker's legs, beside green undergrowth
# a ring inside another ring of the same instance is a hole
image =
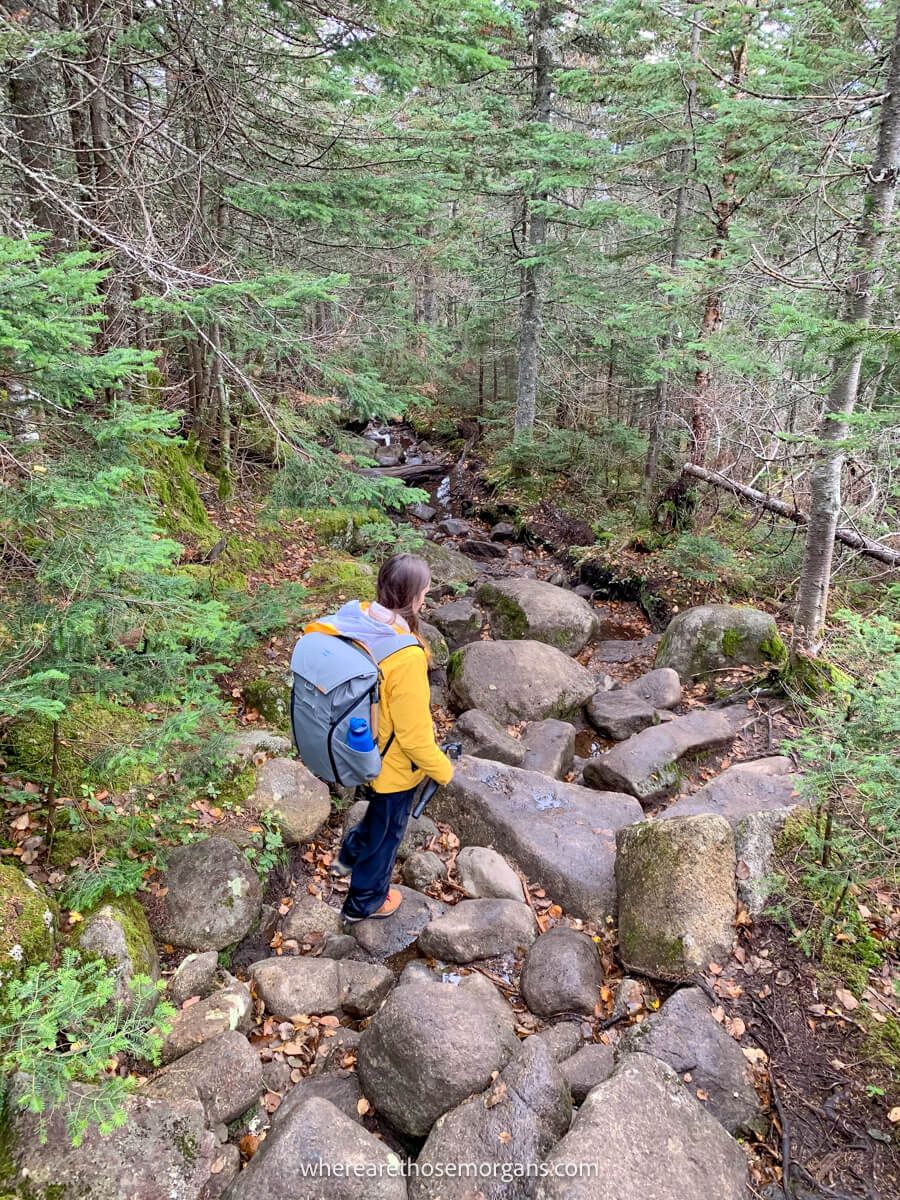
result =
[[[162,883],[162,906],[150,918],[162,942],[222,950],[240,942],[259,917],[257,874],[227,838],[173,850]]]

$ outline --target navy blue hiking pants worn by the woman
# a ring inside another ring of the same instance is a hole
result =
[[[365,790],[366,815],[341,842],[341,862],[353,868],[350,890],[341,910],[347,917],[367,917],[388,899],[414,796],[414,787],[404,792]]]

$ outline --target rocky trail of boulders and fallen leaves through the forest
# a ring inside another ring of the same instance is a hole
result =
[[[385,469],[401,460],[383,446]],[[748,689],[781,653],[774,622],[713,605],[662,632],[512,523],[461,516],[452,479],[432,496],[410,512],[436,584],[432,700],[464,757],[409,822],[403,905],[341,931],[328,868],[364,802],[329,796],[281,734],[239,734],[289,865],[260,887],[227,822],[170,856],[145,898],[148,960],[178,1006],[163,1067],[114,1151],[94,1133],[72,1148],[56,1118],[41,1145],[18,1112],[7,1152],[28,1194],[838,1194],[799,1169],[779,1182],[786,1018],[767,1001],[790,989],[804,1028],[821,997],[761,918],[798,803],[778,704]],[[94,936],[127,974],[102,912]],[[312,1177],[319,1163],[336,1174]],[[888,1195],[884,1180],[854,1195]]]

